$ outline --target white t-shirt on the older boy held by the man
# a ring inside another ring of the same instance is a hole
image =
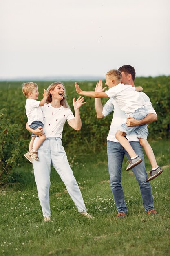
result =
[[[145,102],[142,97],[140,97],[139,93],[135,91],[135,87],[131,85],[119,83],[105,92],[108,97],[114,98],[117,106],[119,106],[127,116],[130,116],[138,108],[144,108]]]

